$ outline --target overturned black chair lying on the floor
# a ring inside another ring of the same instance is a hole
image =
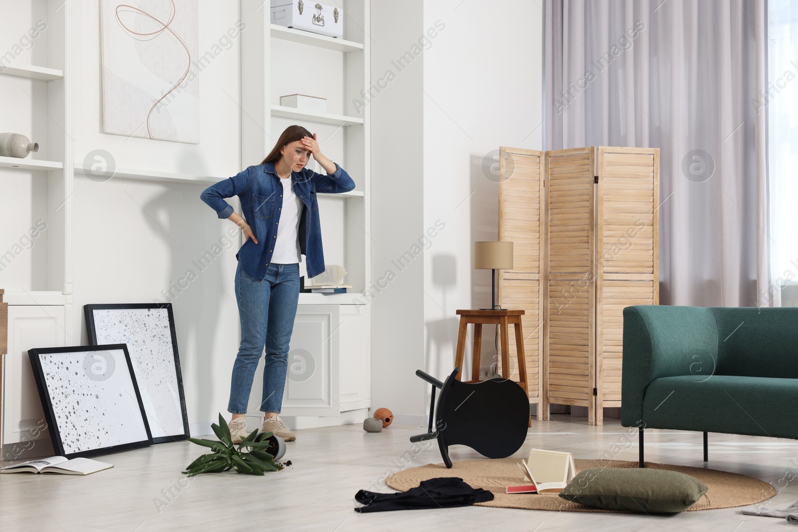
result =
[[[488,458],[507,458],[527,439],[529,398],[513,380],[489,379],[478,383],[456,380],[460,368],[440,382],[417,370],[416,375],[433,385],[429,403],[429,427],[424,434],[410,437],[413,443],[437,439],[446,467],[452,467],[448,456],[450,445],[466,445]],[[440,389],[437,407],[435,390]],[[433,431],[433,420],[435,429]],[[491,432],[479,428],[488,424]]]

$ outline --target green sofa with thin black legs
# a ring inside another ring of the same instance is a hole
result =
[[[621,423],[798,439],[798,307],[626,307]]]

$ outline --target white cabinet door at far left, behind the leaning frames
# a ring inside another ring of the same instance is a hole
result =
[[[66,345],[64,306],[8,306],[8,354],[2,386],[3,444],[30,442],[36,439],[31,434],[49,442],[49,432],[39,432],[45,426],[45,415],[28,349],[63,345]]]

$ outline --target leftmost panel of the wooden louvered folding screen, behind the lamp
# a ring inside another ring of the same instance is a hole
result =
[[[527,391],[537,404],[537,417],[547,416],[543,404],[543,152],[500,148],[499,240],[513,242],[513,269],[500,270],[498,301],[504,309],[523,309],[523,353],[527,361]],[[516,344],[510,342],[509,359],[515,365]],[[518,368],[510,368],[518,380]]]

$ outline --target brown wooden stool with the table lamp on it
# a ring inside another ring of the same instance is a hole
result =
[[[516,326],[516,353],[518,355],[518,377],[519,386],[523,392],[529,396],[527,390],[527,359],[523,353],[523,332],[521,331],[521,316],[523,310],[495,309],[495,310],[457,310],[460,314],[460,333],[457,334],[457,352],[454,365],[458,368],[463,367],[463,357],[465,355],[465,333],[469,323],[474,324],[474,353],[471,363],[471,380],[466,382],[480,382],[480,357],[482,351],[482,325],[499,325],[499,336],[501,338],[501,376],[505,379],[510,377],[510,347],[508,341],[508,325]],[[461,380],[462,371],[457,373],[456,379]],[[529,426],[532,426],[531,416]]]

